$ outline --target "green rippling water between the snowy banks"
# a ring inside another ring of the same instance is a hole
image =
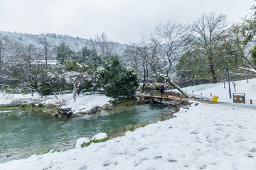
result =
[[[106,132],[113,137],[126,125],[156,123],[169,117],[171,108],[129,106],[80,118],[53,118],[45,113],[0,112],[0,163],[29,157],[48,149],[72,149],[80,137]]]

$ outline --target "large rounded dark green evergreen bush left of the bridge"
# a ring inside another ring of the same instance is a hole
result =
[[[135,95],[139,86],[137,75],[132,68],[122,66],[118,57],[105,60],[98,72],[100,84],[107,96],[130,98]]]

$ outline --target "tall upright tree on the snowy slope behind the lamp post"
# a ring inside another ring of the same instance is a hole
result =
[[[227,16],[217,13],[204,13],[191,27],[192,48],[196,48],[208,65],[213,82],[217,82],[216,58],[220,57],[218,47],[222,44],[225,33],[228,29]]]

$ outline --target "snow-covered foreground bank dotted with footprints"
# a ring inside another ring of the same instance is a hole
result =
[[[255,169],[256,108],[200,103],[176,116],[84,149],[33,155],[0,169]]]

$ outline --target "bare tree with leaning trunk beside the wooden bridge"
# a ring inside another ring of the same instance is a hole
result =
[[[190,98],[173,81],[174,77],[176,77],[174,67],[183,53],[187,35],[188,30],[186,27],[178,23],[166,23],[157,26],[151,38],[154,47],[151,48],[152,58],[149,64],[159,77],[169,82],[181,94]]]

